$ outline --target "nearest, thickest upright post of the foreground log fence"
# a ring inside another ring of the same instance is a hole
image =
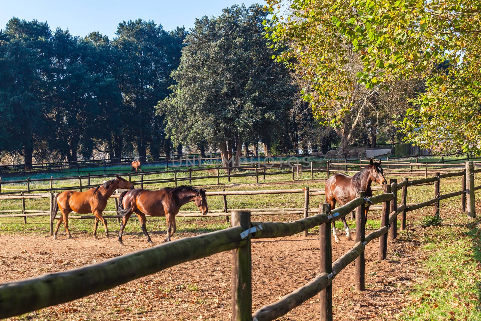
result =
[[[232,226],[249,229],[251,212],[232,212]],[[251,235],[246,244],[232,250],[232,321],[252,320]]]

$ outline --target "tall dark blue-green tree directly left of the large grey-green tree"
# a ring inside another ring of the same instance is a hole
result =
[[[169,34],[153,21],[137,19],[120,23],[116,35],[114,46],[121,53],[119,82],[124,106],[131,110],[130,136],[135,138],[141,161],[148,146],[158,158],[159,141],[152,138],[164,140],[163,121],[155,116],[155,105],[168,95],[185,30]],[[170,146],[170,142],[160,145]]]

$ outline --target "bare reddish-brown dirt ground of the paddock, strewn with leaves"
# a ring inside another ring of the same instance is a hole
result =
[[[368,231],[367,231],[368,232]],[[195,234],[180,233],[174,240]],[[69,270],[148,247],[141,234],[124,235],[124,243],[76,233],[76,240],[32,234],[0,235],[0,282]],[[160,244],[162,232],[151,233]],[[343,237],[341,236],[342,240]],[[355,238],[355,234],[353,239]],[[407,239],[407,238],[406,238]],[[333,244],[333,260],[354,241]],[[388,245],[388,259],[376,261],[378,240],[366,250],[366,291],[354,291],[354,263],[333,281],[335,320],[392,320],[407,303],[405,292],[416,278],[417,244],[401,238]],[[303,286],[319,272],[319,241],[314,233],[252,242],[253,311]],[[70,303],[10,320],[230,320],[231,254],[186,262],[148,277]],[[278,320],[319,317],[315,296]]]

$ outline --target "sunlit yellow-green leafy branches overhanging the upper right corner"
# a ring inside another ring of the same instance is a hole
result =
[[[279,1],[269,2],[274,11]],[[289,19],[276,16],[278,26],[268,31],[279,49],[288,39],[308,45],[313,41],[306,48],[294,47],[294,51],[300,49],[297,55],[286,51],[278,59],[294,56],[302,66],[324,66],[306,67],[304,74],[313,84],[305,91],[306,99],[321,115],[332,110],[323,105],[326,92],[328,97],[335,94],[338,102],[345,95],[338,97],[335,85],[318,86],[319,72],[329,74],[329,68],[340,64],[336,56],[318,53],[329,39],[316,42],[317,36],[322,37],[316,27],[337,35],[334,42],[358,56],[362,69],[355,83],[368,90],[389,89],[397,79],[425,79],[425,91],[411,101],[413,108],[407,110],[405,119],[396,122],[407,141],[481,154],[480,11],[481,3],[476,0],[293,0]],[[326,78],[321,75],[322,79]]]

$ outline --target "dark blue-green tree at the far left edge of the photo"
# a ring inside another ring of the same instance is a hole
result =
[[[0,150],[16,151],[32,164],[36,141],[45,132],[46,74],[51,32],[48,24],[12,18],[0,33]],[[29,165],[27,165],[29,167]]]

